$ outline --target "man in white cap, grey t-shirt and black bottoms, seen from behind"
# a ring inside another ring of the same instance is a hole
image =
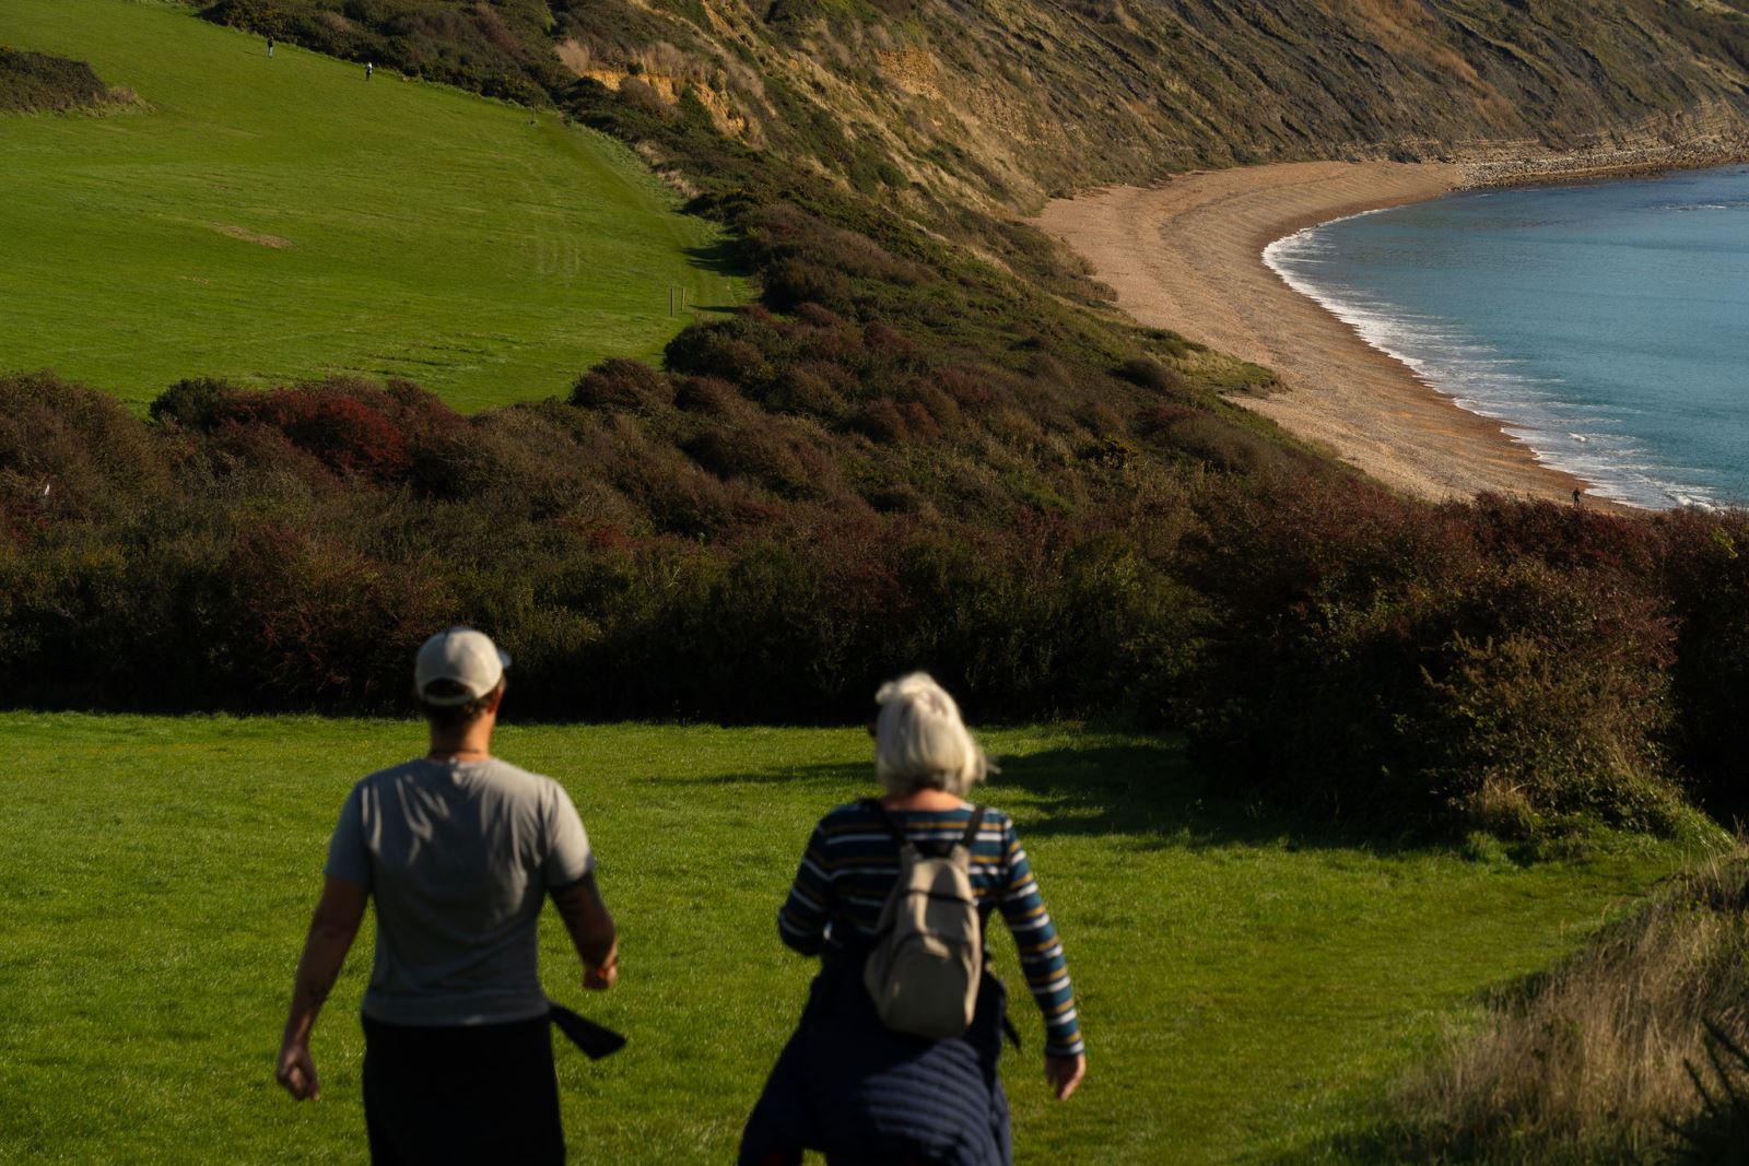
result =
[[[362,1019],[378,1164],[563,1163],[551,1005],[535,967],[547,895],[582,986],[617,977],[614,920],[575,806],[551,778],[488,752],[507,664],[469,628],[427,640],[415,692],[430,752],[359,781],[329,843],[275,1075],[297,1100],[320,1096],[310,1031],[374,897]]]

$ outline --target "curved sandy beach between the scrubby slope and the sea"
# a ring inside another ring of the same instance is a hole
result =
[[[1268,243],[1301,227],[1429,199],[1464,177],[1439,163],[1245,166],[1056,199],[1039,226],[1084,255],[1139,322],[1273,369],[1284,390],[1240,404],[1378,481],[1427,498],[1571,498],[1583,481],[1541,465],[1263,264]]]

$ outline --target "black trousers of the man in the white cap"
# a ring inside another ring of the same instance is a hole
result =
[[[563,1166],[547,1017],[422,1028],[364,1017],[374,1166]]]

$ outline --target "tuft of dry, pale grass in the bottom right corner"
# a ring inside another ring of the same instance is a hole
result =
[[[1749,1035],[1749,850],[1690,871],[1583,953],[1490,1002],[1396,1096],[1406,1156],[1490,1163],[1663,1157],[1702,1110],[1705,1026]]]

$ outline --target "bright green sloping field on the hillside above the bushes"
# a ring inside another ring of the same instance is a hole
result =
[[[740,281],[624,147],[187,9],[5,0],[0,44],[143,105],[0,115],[0,367],[145,402],[185,376],[406,376],[462,409],[649,357]]]

